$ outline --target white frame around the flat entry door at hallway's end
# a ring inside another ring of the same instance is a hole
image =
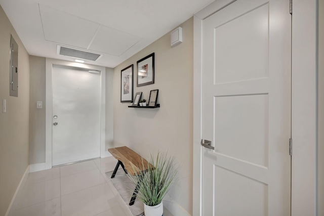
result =
[[[105,110],[106,110],[106,68],[83,63],[68,62],[57,59],[46,58],[46,145],[45,145],[45,166],[46,169],[52,168],[52,116],[53,116],[53,91],[52,91],[52,72],[53,65],[67,67],[78,67],[89,70],[101,71],[101,106],[100,106],[100,157],[106,157],[110,154],[105,151]]]

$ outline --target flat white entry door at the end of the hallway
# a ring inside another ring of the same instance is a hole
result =
[[[100,156],[100,72],[53,65],[52,164]]]

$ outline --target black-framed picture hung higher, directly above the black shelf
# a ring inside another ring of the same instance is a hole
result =
[[[154,53],[137,61],[137,87],[154,83]]]

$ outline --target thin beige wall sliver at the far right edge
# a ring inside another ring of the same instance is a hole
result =
[[[318,213],[324,215],[324,0],[318,1]]]

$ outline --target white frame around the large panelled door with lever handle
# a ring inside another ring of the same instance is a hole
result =
[[[236,0],[216,0],[193,19],[193,193],[192,214],[202,215],[201,24]],[[289,0],[286,0],[289,6]],[[294,0],[292,16],[292,200],[291,215],[316,215],[317,209],[317,1]],[[289,7],[287,8],[289,13]],[[307,133],[305,133],[307,128]],[[287,140],[287,154],[288,154]]]

